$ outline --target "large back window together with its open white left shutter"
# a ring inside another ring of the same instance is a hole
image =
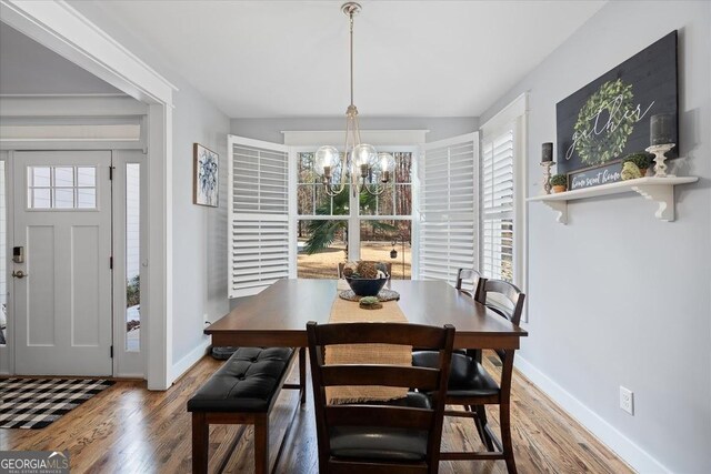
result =
[[[387,143],[422,143],[424,133],[361,131],[364,142],[395,159],[393,180],[379,196],[324,192],[313,169],[317,143],[338,143],[342,131],[284,132],[286,145],[229,135],[229,296],[259,293],[282,278],[332,279],[339,262],[361,255],[390,259],[394,276],[409,278],[418,149]]]

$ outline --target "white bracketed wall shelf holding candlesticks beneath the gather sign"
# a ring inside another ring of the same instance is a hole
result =
[[[657,219],[671,222],[674,220],[674,186],[677,184],[688,184],[697,181],[699,181],[697,177],[638,178],[635,180],[618,181],[593,188],[539,195],[529,198],[527,201],[542,202],[557,213],[555,220],[558,222],[567,224],[568,201],[634,191],[658,204],[657,212],[654,213]]]

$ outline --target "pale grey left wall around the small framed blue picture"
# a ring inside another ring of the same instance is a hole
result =
[[[73,8],[150,64],[179,90],[173,110],[173,314],[172,376],[180,376],[202,354],[209,337],[203,316],[216,321],[228,312],[227,300],[227,134],[230,121],[150,44],[117,23],[100,2],[70,1]],[[192,203],[192,144],[201,143],[220,155],[220,206]]]

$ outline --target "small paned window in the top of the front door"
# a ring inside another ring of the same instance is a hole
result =
[[[94,167],[28,167],[28,209],[97,209]]]

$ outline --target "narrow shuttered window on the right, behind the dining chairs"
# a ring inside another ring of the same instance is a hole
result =
[[[522,291],[525,113],[523,94],[481,128],[481,271],[487,278],[509,281]]]

